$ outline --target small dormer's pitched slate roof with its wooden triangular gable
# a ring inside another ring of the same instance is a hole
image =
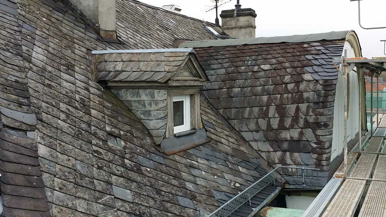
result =
[[[96,80],[108,86],[205,85],[191,48],[93,51]]]

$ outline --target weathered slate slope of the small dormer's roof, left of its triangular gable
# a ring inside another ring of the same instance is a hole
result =
[[[176,75],[188,59],[188,55],[194,53],[193,49],[131,51],[135,53],[128,50],[122,54],[96,54],[97,80],[164,83]]]

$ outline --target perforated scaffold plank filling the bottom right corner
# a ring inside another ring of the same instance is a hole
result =
[[[386,182],[372,181],[364,199],[359,217],[386,216]]]

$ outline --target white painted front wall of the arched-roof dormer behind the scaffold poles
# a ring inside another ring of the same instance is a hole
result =
[[[345,42],[344,50],[347,50],[347,58],[354,58],[354,49],[349,42]],[[340,68],[342,70],[342,67]],[[354,71],[349,72],[349,116],[347,120],[347,141],[355,138],[359,129],[359,93],[358,93],[358,77]],[[332,132],[332,148],[331,161],[342,153],[343,150],[343,117],[344,117],[344,89],[343,76],[338,75],[338,82],[335,92],[334,103],[334,129]]]

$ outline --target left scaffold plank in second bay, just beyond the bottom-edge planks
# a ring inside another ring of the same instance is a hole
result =
[[[361,154],[358,162],[350,173],[350,177],[369,178],[376,158],[377,154]]]

